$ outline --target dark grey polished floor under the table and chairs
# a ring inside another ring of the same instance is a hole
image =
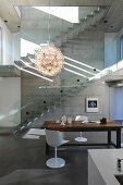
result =
[[[73,139],[74,135],[66,137]],[[88,133],[87,137],[88,140],[103,140],[107,135]],[[66,164],[61,169],[49,169],[46,160],[53,151],[46,157],[45,136],[24,139],[21,135],[1,135],[0,185],[87,185],[87,148],[60,147],[58,156],[64,158]]]

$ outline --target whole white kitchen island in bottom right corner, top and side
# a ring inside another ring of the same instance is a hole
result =
[[[119,171],[118,158],[123,159],[123,149],[89,149],[88,185],[121,185],[115,175],[123,175],[123,161]]]

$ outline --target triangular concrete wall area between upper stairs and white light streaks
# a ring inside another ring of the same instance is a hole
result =
[[[82,32],[63,47],[64,55],[102,70],[104,66],[104,33],[101,25]]]

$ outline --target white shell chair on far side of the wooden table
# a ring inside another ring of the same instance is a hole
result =
[[[86,122],[88,121],[88,118],[85,115],[76,115],[75,121],[83,121]],[[81,132],[81,136],[75,138],[76,141],[87,141],[86,137],[82,136],[82,132]]]

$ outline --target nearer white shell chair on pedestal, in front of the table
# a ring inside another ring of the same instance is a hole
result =
[[[54,158],[48,159],[46,164],[49,168],[62,168],[65,160],[57,157],[57,147],[70,141],[63,139],[63,134],[59,131],[46,130],[46,141],[49,146],[54,147]]]

